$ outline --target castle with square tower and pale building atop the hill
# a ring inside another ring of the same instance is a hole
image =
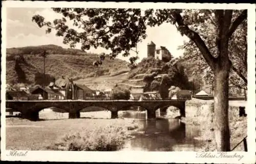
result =
[[[172,59],[172,54],[164,46],[156,48],[156,44],[153,41],[151,41],[147,44],[147,57],[153,57],[164,62],[169,62],[170,59]]]

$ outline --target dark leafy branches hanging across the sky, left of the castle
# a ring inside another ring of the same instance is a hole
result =
[[[56,36],[63,37],[63,43],[72,48],[81,43],[82,50],[98,46],[111,49],[110,58],[115,58],[118,53],[128,56],[129,51],[141,40],[145,39],[146,16],[140,9],[87,9],[87,8],[53,8],[53,11],[63,15],[62,19],[53,22],[45,21],[40,15],[32,17],[41,28],[46,26],[46,33],[56,30]],[[73,25],[78,32],[66,25],[66,18],[74,21]],[[127,19],[129,18],[129,19]]]

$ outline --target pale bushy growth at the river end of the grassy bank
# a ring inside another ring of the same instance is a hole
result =
[[[48,150],[63,151],[117,151],[123,148],[129,138],[123,127],[112,125],[81,132],[66,134],[59,142],[47,147]]]

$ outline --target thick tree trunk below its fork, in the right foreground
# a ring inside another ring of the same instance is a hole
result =
[[[228,63],[228,62],[227,62]],[[214,79],[214,122],[215,138],[218,151],[230,151],[228,122],[228,76],[230,65],[218,63]]]

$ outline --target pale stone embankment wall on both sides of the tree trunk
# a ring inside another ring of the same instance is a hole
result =
[[[243,104],[242,104],[243,105]],[[241,106],[242,106],[241,105]],[[216,151],[215,128],[213,122],[214,101],[192,99],[186,101],[186,124],[198,125],[200,134],[196,140],[201,141],[201,148],[205,151]],[[236,146],[247,134],[247,119],[239,116],[239,105],[229,106],[229,127],[231,149]],[[236,150],[244,151],[243,145]]]

